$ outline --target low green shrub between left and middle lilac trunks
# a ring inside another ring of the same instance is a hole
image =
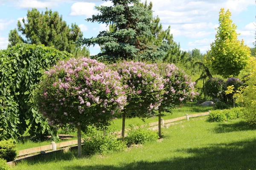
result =
[[[86,156],[94,154],[107,154],[125,150],[124,142],[116,138],[113,133],[94,133],[86,136],[82,145],[82,154]]]

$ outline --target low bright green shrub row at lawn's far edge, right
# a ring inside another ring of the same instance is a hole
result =
[[[243,108],[224,109],[223,111],[215,110],[209,114],[209,122],[224,122],[237,119],[243,114]]]

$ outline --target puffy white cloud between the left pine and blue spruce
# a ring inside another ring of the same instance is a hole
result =
[[[87,17],[97,14],[98,12],[94,9],[95,3],[84,3],[78,2],[73,3],[71,6],[70,16],[85,15]]]

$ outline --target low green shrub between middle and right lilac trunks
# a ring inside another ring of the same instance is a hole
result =
[[[130,125],[131,130],[128,131],[125,137],[125,142],[128,145],[131,144],[144,144],[145,142],[153,142],[158,139],[156,132],[146,130],[145,128],[136,128],[134,125]]]

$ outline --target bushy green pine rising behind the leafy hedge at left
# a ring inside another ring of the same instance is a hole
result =
[[[21,35],[19,34],[21,33]],[[23,38],[23,36],[25,38]],[[40,13],[36,8],[27,12],[27,19],[17,22],[17,29],[9,33],[9,47],[20,42],[45,46],[54,46],[60,51],[73,52],[80,49],[75,42],[83,34],[76,24],[71,27],[62,20],[57,11],[46,9]]]

